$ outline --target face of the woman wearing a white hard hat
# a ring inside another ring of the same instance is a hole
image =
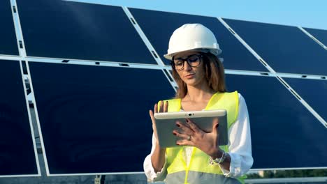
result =
[[[189,57],[189,56],[195,56],[195,57]],[[175,68],[182,68],[182,64],[184,63],[184,68],[182,70],[176,70],[177,74],[180,75],[180,78],[183,82],[187,84],[187,86],[198,86],[202,85],[203,82],[205,82],[205,70],[203,67],[203,58],[200,56],[198,59],[200,59],[200,65],[196,66],[196,56],[201,55],[200,52],[181,52],[179,54],[176,54],[174,56],[174,63]],[[191,65],[194,65],[194,67],[189,66],[187,59],[189,57],[189,63]],[[184,61],[182,61],[184,59]],[[179,66],[179,67],[178,67]],[[196,66],[196,67],[195,67]]]

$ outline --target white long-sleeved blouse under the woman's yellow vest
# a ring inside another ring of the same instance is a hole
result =
[[[238,93],[238,103],[238,119],[231,125],[231,128],[228,129],[228,154],[231,157],[231,166],[228,171],[219,165],[224,175],[232,178],[242,176],[249,171],[253,164],[249,114],[247,112],[245,100],[240,93]],[[148,181],[163,181],[167,174],[166,163],[163,165],[163,169],[157,173],[152,167],[151,156],[154,152],[156,141],[157,139],[152,135],[151,153],[147,155],[143,164]],[[184,146],[184,151],[184,160],[186,160],[188,164],[191,157],[192,147]]]

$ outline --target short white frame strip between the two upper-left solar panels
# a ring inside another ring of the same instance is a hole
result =
[[[20,52],[20,56],[22,56],[22,58],[24,59],[24,57],[26,57],[26,49],[25,49],[24,38],[22,36],[22,26],[20,25],[20,16],[19,16],[16,0],[10,0],[10,4],[11,6],[15,6],[15,13],[13,11],[13,8],[11,8],[11,10],[13,13],[17,47],[18,47],[18,51]],[[22,47],[20,47],[20,45],[22,45]]]

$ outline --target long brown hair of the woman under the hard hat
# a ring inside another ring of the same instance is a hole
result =
[[[205,69],[205,79],[210,89],[215,92],[226,92],[224,66],[214,54],[203,53],[203,67]],[[184,98],[187,94],[187,85],[180,79],[180,75],[173,68],[173,77],[177,83],[178,89],[175,98]]]

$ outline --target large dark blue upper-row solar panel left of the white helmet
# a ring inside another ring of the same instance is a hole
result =
[[[57,0],[17,6],[28,56],[157,64],[121,7]]]

